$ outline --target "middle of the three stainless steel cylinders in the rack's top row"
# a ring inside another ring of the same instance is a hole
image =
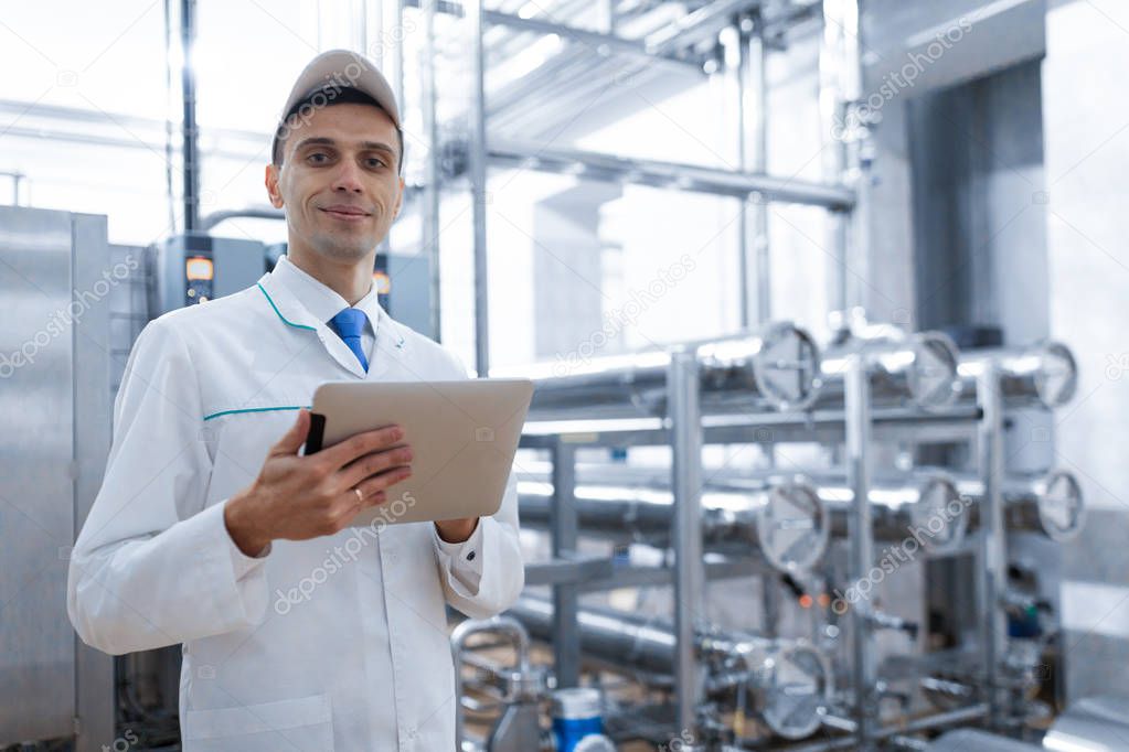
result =
[[[939,331],[884,334],[881,338],[848,336],[825,348],[821,362],[823,386],[815,407],[842,407],[847,359],[855,352],[866,362],[875,406],[939,409],[953,404],[960,389],[960,355],[953,340]]]

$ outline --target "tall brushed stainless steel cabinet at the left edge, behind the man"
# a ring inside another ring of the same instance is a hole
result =
[[[113,661],[71,629],[67,563],[110,452],[110,298],[132,271],[104,216],[0,206],[0,746],[114,737]]]

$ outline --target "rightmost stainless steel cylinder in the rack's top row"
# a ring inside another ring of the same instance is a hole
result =
[[[1078,365],[1060,342],[1030,347],[974,350],[961,353],[961,398],[975,398],[977,375],[984,363],[996,364],[999,389],[1008,407],[1034,405],[1054,408],[1070,401],[1078,390]]]

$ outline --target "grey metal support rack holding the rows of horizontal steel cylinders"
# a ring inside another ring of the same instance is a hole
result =
[[[580,675],[584,657],[580,642],[581,636],[587,634],[587,627],[581,626],[581,610],[578,605],[581,592],[640,584],[674,584],[674,665],[671,667],[671,685],[675,704],[668,720],[672,728],[690,729],[699,740],[709,738],[709,729],[716,728],[717,719],[709,716],[706,705],[710,682],[703,676],[700,652],[695,649],[695,635],[700,635],[702,629],[709,629],[702,619],[704,604],[701,593],[704,584],[715,576],[779,576],[779,573],[771,573],[763,565],[753,563],[752,559],[758,554],[755,550],[749,551],[749,561],[742,561],[739,554],[730,554],[723,565],[707,564],[702,551],[703,511],[700,506],[703,475],[701,451],[704,445],[765,445],[814,441],[842,448],[846,479],[843,480],[842,472],[834,478],[850,492],[850,501],[844,505],[849,530],[846,539],[848,564],[844,581],[855,583],[866,578],[875,566],[875,503],[869,499],[875,490],[881,493],[884,488],[884,481],[874,480],[881,476],[875,472],[879,446],[890,442],[963,443],[974,448],[971,455],[975,466],[974,477],[960,476],[960,484],[962,488],[971,489],[966,498],[978,505],[978,528],[975,532],[969,533],[972,537],[970,546],[953,549],[944,547],[943,550],[930,551],[929,556],[971,551],[979,559],[974,583],[979,595],[977,639],[984,669],[982,674],[974,673],[969,679],[973,687],[980,687],[983,691],[973,691],[957,708],[917,717],[907,724],[884,724],[877,706],[886,689],[878,672],[875,638],[881,630],[912,630],[913,625],[882,612],[866,598],[858,599],[851,601],[846,609],[850,627],[850,680],[847,685],[839,687],[835,702],[829,708],[825,719],[829,729],[844,733],[822,742],[787,749],[805,752],[876,750],[894,737],[902,744],[921,744],[920,740],[910,738],[910,735],[977,723],[986,723],[997,731],[1014,731],[1015,719],[1022,713],[1022,698],[1016,691],[1019,689],[1016,669],[1008,662],[1006,609],[1016,595],[1009,592],[1007,584],[1008,517],[1005,512],[1009,505],[1036,506],[1033,495],[1038,492],[1032,490],[1029,480],[1014,481],[1004,475],[1001,442],[1007,415],[1005,398],[1009,398],[1013,404],[1030,405],[1038,397],[1035,387],[1018,392],[1014,389],[1015,361],[1003,353],[992,359],[981,359],[977,377],[977,402],[971,409],[959,400],[945,406],[930,404],[934,393],[931,390],[920,393],[920,399],[928,409],[921,406],[896,407],[887,399],[891,387],[889,369],[881,357],[874,356],[874,352],[889,352],[885,343],[860,339],[840,352],[844,364],[843,384],[841,389],[830,390],[831,395],[838,396],[839,404],[824,402],[823,409],[745,414],[741,416],[741,421],[723,421],[718,425],[719,416],[700,410],[702,387],[701,380],[695,375],[700,368],[698,348],[683,347],[673,351],[667,361],[668,395],[664,404],[668,409],[659,419],[646,425],[638,425],[639,422],[636,422],[634,425],[624,426],[622,422],[614,419],[602,421],[585,416],[574,421],[571,426],[551,424],[552,430],[548,433],[539,433],[542,426],[537,424],[530,426],[522,445],[550,451],[553,486],[550,530],[557,558],[532,566],[532,576],[527,580],[530,584],[553,586],[550,642],[554,651],[558,685],[575,685]],[[972,357],[965,357],[961,362],[969,362]],[[922,359],[922,368],[931,366],[930,359]],[[960,377],[956,364],[953,363],[953,366],[955,395]],[[610,373],[615,374],[618,371]],[[1038,380],[1029,379],[1027,383],[1035,384]],[[592,388],[594,395],[603,393],[598,383]],[[883,399],[872,399],[875,390]],[[820,400],[816,402],[820,404]],[[771,425],[773,421],[782,430],[773,431],[772,437],[767,442],[759,428]],[[577,450],[584,446],[663,444],[671,446],[673,458],[669,479],[673,566],[641,573],[631,567],[618,569],[609,560],[577,557],[577,539],[584,530],[578,524],[576,485],[581,472],[586,474],[584,469],[578,471]],[[738,475],[732,472],[723,483],[732,483]],[[1053,477],[1057,476],[1049,476]],[[1043,483],[1045,485],[1047,481]],[[855,499],[868,501],[856,503]],[[543,631],[540,621],[537,629]],[[840,710],[844,710],[846,716]]]

